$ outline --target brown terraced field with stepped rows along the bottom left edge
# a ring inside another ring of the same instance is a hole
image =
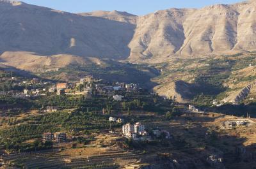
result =
[[[92,156],[61,154],[60,150],[33,152],[4,156],[4,168],[104,168],[113,169],[139,161],[140,156],[118,148],[106,148]]]

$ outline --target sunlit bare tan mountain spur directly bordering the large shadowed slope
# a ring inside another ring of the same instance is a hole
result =
[[[184,43],[184,17],[193,10],[164,10],[140,17],[129,47],[130,61],[163,59],[175,54]]]

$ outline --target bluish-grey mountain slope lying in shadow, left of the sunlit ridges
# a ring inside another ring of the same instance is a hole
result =
[[[0,50],[125,58],[134,26],[100,17],[0,1]]]

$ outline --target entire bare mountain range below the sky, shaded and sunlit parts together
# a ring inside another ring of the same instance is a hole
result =
[[[0,0],[0,52],[164,62],[169,57],[256,49],[256,1],[170,9],[138,17],[120,11],[72,14]]]

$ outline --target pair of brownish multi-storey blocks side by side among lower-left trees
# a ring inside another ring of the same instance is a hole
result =
[[[44,133],[42,135],[42,140],[43,142],[57,142],[57,143],[62,143],[66,142],[67,140],[67,135],[66,133],[63,132],[57,132],[57,133]]]

